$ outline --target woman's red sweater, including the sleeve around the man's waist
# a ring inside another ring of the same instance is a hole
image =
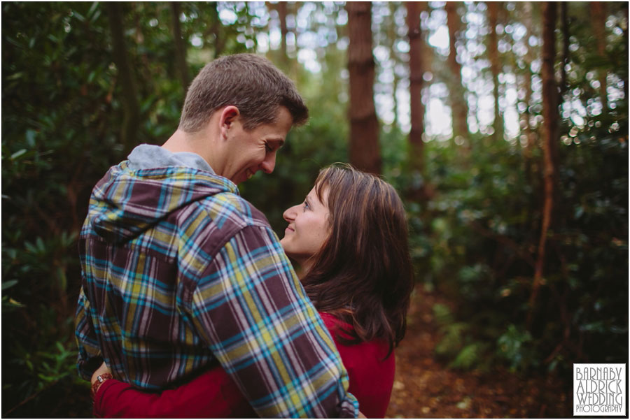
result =
[[[356,396],[366,417],[383,418],[393,386],[395,361],[386,342],[372,340],[346,346],[337,341],[337,326],[351,328],[320,312],[350,378],[348,391]],[[94,398],[95,417],[258,417],[223,368],[215,368],[192,382],[161,393],[139,391],[125,382],[109,379]]]

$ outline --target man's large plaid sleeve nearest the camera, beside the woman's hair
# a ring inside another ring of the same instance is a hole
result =
[[[190,298],[195,329],[260,417],[357,417],[348,375],[275,233],[247,226]]]

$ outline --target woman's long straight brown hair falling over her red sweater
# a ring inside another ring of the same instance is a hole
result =
[[[337,334],[344,344],[405,335],[414,286],[405,208],[395,189],[348,164],[323,168],[315,181],[321,203],[328,189],[330,236],[302,278],[320,312],[353,326]]]

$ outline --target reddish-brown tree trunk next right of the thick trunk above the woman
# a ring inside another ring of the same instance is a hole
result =
[[[420,29],[421,5],[407,1],[407,28],[409,29],[409,99],[411,101],[411,131],[409,144],[412,171],[424,173],[424,106],[422,104],[422,36]]]

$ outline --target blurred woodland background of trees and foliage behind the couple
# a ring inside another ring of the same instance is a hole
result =
[[[240,187],[276,232],[321,166],[367,157],[405,198],[416,298],[453,303],[433,308],[445,365],[626,363],[628,5],[549,6],[2,3],[3,416],[90,415],[73,338],[90,190],[235,52],[311,109]]]

